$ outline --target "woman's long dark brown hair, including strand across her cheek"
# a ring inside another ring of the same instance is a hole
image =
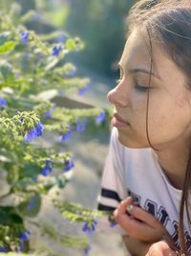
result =
[[[134,29],[146,32],[149,38],[150,53],[152,42],[158,41],[161,50],[171,58],[185,75],[185,86],[191,91],[191,0],[139,0],[130,10],[128,18],[128,35]],[[151,61],[152,69],[152,61]],[[151,81],[151,76],[150,76]],[[147,99],[147,137],[148,133]],[[155,148],[154,148],[155,149]],[[180,252],[188,255],[184,240],[184,209],[191,224],[189,194],[191,189],[191,149],[180,200],[179,238]]]

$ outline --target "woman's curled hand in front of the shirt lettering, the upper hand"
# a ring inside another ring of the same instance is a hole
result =
[[[153,215],[135,205],[132,198],[121,201],[114,216],[117,223],[133,239],[152,244],[164,238],[171,241],[164,226]]]

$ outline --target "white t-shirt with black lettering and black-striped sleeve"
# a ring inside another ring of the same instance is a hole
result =
[[[178,223],[181,191],[163,174],[152,149],[129,149],[117,139],[113,128],[102,176],[99,210],[114,210],[120,200],[131,196],[166,227],[179,246]],[[184,217],[185,241],[191,251],[191,233]]]

